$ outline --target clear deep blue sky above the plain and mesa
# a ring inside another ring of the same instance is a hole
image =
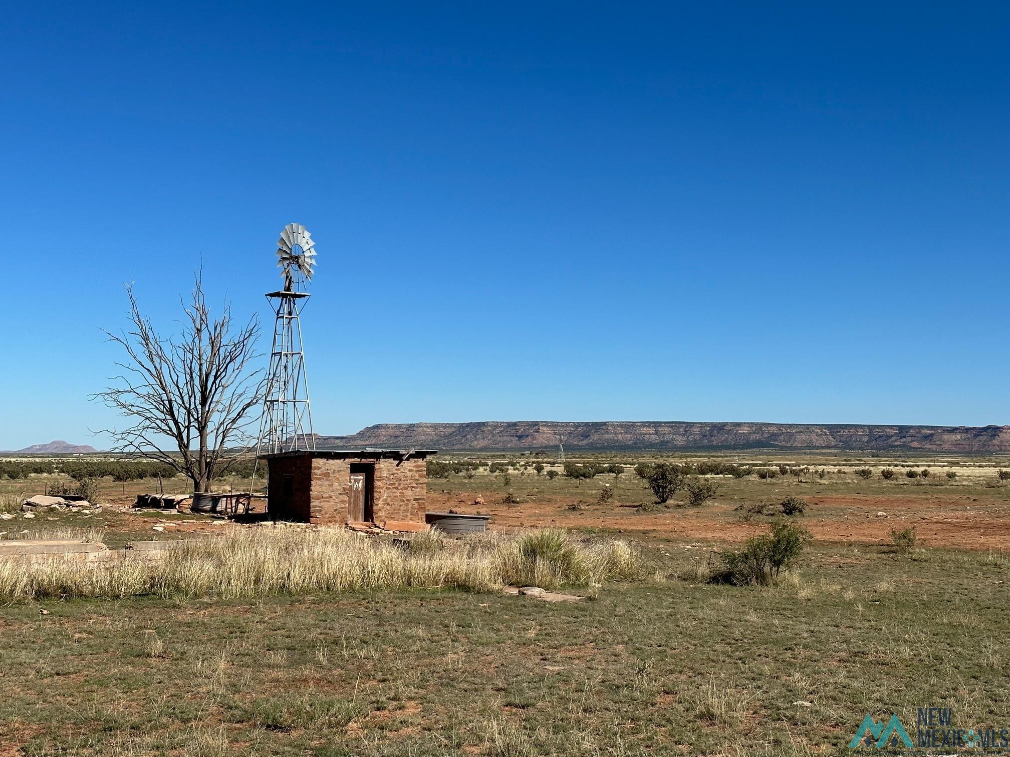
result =
[[[810,5],[6,8],[0,448],[291,221],[318,432],[1010,423],[1010,11]]]

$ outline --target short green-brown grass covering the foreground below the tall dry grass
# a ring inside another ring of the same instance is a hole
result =
[[[710,559],[667,551],[678,573]],[[815,548],[776,587],[678,579],[572,605],[431,590],[16,605],[0,619],[0,743],[27,755],[834,754],[867,713],[914,725],[915,708],[946,706],[956,726],[1000,728],[1008,573],[999,554]]]

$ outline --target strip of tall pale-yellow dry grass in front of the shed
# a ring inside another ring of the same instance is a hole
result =
[[[154,564],[130,553],[98,565],[0,563],[0,599],[117,599],[135,594],[248,598],[362,589],[495,591],[508,583],[590,586],[647,574],[638,553],[611,540],[547,529],[509,538],[419,535],[400,544],[344,530],[240,529],[180,542]]]

